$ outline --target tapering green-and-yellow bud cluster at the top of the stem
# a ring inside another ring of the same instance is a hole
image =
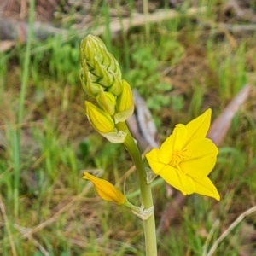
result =
[[[125,135],[117,131],[115,124],[131,116],[134,103],[131,87],[122,79],[118,61],[100,38],[88,35],[80,45],[80,64],[83,88],[98,104],[85,102],[90,123],[113,143],[124,141]]]

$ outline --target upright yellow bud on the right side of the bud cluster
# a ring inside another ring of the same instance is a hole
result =
[[[117,97],[116,114],[114,116],[115,123],[125,122],[126,119],[131,117],[134,111],[134,102],[131,91],[131,86],[123,80],[123,91]]]

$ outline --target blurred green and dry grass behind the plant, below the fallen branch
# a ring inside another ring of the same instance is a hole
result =
[[[201,5],[206,3],[210,4],[201,1]],[[101,7],[99,1],[94,4],[99,20],[111,18],[108,6]],[[201,20],[217,21],[219,6],[217,1],[211,4],[214,12],[201,14]],[[135,8],[133,1],[129,8],[131,12]],[[181,12],[187,8],[188,3]],[[161,140],[174,125],[188,122],[206,108],[212,108],[216,118],[244,84],[256,81],[253,33],[242,38],[235,33],[236,47],[231,47],[230,38],[201,29],[195,20],[181,16],[150,26],[147,40],[144,27],[115,40],[109,37],[107,31],[103,38],[111,45],[124,78],[145,98]],[[141,221],[125,207],[99,200],[91,184],[81,178],[82,170],[98,170],[102,177],[118,183],[132,163],[125,148],[96,134],[84,115],[79,40],[33,41],[30,64],[25,63],[26,45],[0,54],[3,256],[143,255]],[[29,67],[28,73],[24,65]],[[212,219],[219,219],[220,226],[210,245],[241,212],[255,205],[255,107],[253,88],[220,147],[211,178],[221,201],[189,196],[177,223],[158,237],[161,256],[201,255]],[[133,195],[137,191],[135,173],[127,178],[125,189],[138,204],[136,193]],[[154,186],[154,201],[159,224],[171,201],[164,183]],[[244,222],[252,223],[253,217],[255,214]],[[239,243],[240,228],[221,243],[216,255],[238,255],[240,247],[232,246],[230,239]]]

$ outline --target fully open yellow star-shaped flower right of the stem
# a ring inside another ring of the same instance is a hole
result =
[[[188,125],[176,125],[160,149],[146,154],[149,166],[166,183],[183,195],[193,193],[219,200],[219,194],[207,177],[216,164],[218,148],[207,136],[212,110],[193,119]]]

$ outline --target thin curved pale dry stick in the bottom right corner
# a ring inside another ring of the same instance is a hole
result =
[[[237,224],[241,223],[241,221],[245,217],[247,217],[247,215],[252,214],[253,212],[256,212],[256,207],[249,208],[246,212],[241,213],[241,215],[238,218],[236,218],[236,220],[232,224],[230,224],[229,228],[225,230],[224,233],[221,236],[219,236],[218,239],[213,243],[210,251],[207,253],[207,256],[212,256],[212,254],[215,252],[221,241],[223,241],[224,238],[228,236],[230,232],[234,230],[234,228],[236,228]]]

